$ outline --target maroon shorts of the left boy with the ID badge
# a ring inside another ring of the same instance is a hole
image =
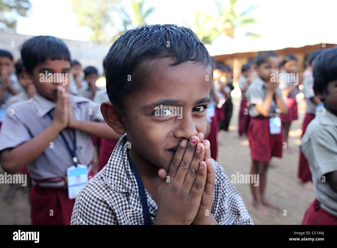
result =
[[[90,179],[94,176],[92,170],[88,176]],[[32,225],[70,225],[74,204],[75,199],[68,198],[67,189],[32,185],[30,190]]]

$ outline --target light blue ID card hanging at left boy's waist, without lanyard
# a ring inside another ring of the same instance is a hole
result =
[[[83,186],[88,183],[88,167],[78,164],[67,169],[68,198],[75,199]]]

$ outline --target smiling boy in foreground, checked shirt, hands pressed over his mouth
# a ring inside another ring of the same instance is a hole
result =
[[[188,28],[143,26],[117,39],[106,56],[110,101],[101,112],[126,134],[82,188],[71,224],[252,224],[203,141],[212,71]]]

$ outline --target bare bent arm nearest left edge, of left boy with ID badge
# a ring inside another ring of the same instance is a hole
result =
[[[27,142],[15,148],[4,149],[0,154],[0,163],[3,169],[12,174],[18,172],[36,159],[60,131],[60,128],[52,123]]]

